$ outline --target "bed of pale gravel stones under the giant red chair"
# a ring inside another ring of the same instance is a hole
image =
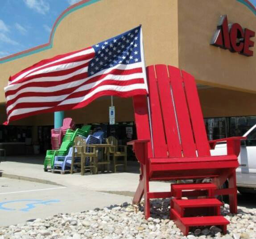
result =
[[[256,239],[256,209],[239,207],[238,214],[222,214],[231,222],[223,235],[218,227],[194,228],[187,237],[169,220],[169,199],[152,201],[151,216],[144,219],[139,206],[123,203],[80,213],[58,214],[33,222],[0,228],[0,239]]]

